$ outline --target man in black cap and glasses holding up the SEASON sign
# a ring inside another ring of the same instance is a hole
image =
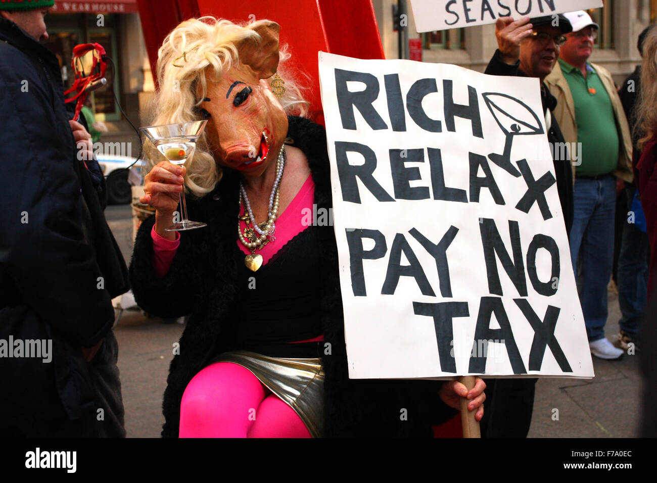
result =
[[[531,23],[530,23],[531,22]],[[564,136],[552,115],[556,99],[543,80],[552,72],[559,57],[563,34],[572,31],[568,19],[559,15],[538,18],[499,18],[495,35],[499,49],[495,51],[485,74],[493,76],[535,77],[541,81],[541,101],[545,109],[547,140],[553,155],[556,187],[561,210],[570,233],[574,217],[573,180],[570,156],[562,157]],[[568,152],[566,150],[566,152]],[[537,379],[486,379],[488,407],[482,419],[482,437],[525,438],[532,423],[532,409]]]

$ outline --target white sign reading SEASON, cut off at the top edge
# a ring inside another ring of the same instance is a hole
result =
[[[602,0],[411,0],[417,32],[494,24],[498,18],[597,9]]]

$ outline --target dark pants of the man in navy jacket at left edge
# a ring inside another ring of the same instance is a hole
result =
[[[96,356],[87,363],[94,390],[94,411],[81,419],[52,419],[47,415],[22,417],[0,428],[0,438],[125,438],[124,407],[118,360],[118,343],[110,331]]]

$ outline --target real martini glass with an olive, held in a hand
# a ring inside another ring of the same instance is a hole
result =
[[[178,166],[194,153],[196,141],[203,132],[208,120],[179,122],[176,124],[162,124],[162,126],[140,127],[139,129],[148,137],[148,140],[167,158],[171,164]],[[187,219],[187,204],[185,203],[185,189],[180,192],[180,212],[182,220],[166,227],[165,231],[193,230],[208,226],[200,221]]]

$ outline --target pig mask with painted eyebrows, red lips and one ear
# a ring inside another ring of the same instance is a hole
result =
[[[275,163],[287,135],[287,116],[265,81],[279,64],[280,29],[275,22],[257,22],[260,45],[242,41],[237,64],[219,79],[206,74],[206,97],[198,106],[208,118],[206,141],[215,161],[244,176],[260,176]]]

